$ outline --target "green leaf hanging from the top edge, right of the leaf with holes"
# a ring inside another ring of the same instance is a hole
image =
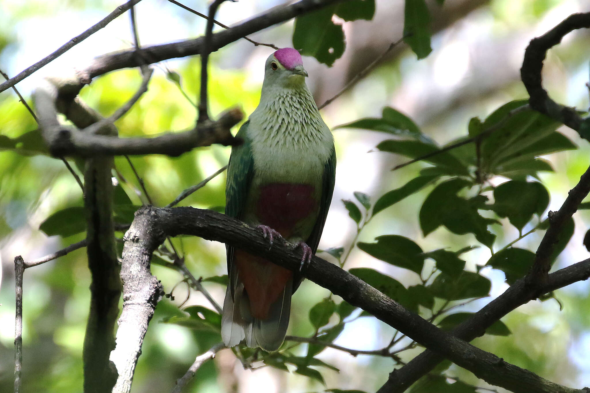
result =
[[[404,42],[418,60],[432,52],[430,47],[430,13],[424,0],[406,0],[404,10]]]

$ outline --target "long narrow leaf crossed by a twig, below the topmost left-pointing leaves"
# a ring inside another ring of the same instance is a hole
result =
[[[401,154],[409,158],[419,158],[427,154],[437,153],[440,148],[434,144],[424,143],[421,141],[411,140],[395,140],[388,139],[379,143],[376,148],[379,151],[386,151],[388,153]],[[467,167],[458,160],[457,157],[448,151],[440,151],[440,153],[434,154],[428,158],[424,158],[423,161],[427,161],[436,166],[444,167],[446,171],[453,174],[468,176],[469,171]]]

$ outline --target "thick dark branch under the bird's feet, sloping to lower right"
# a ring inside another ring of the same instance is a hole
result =
[[[125,246],[145,244],[141,247],[140,255],[146,258],[146,255],[151,255],[157,243],[162,242],[166,235],[181,234],[228,243],[273,260],[277,265],[288,269],[299,269],[300,266],[299,253],[283,240],[277,240],[269,249],[263,235],[246,224],[224,214],[191,207],[173,209],[142,207],[136,213],[136,219],[127,233],[129,240]],[[132,239],[133,241],[130,241]],[[504,362],[496,355],[461,341],[450,333],[441,331],[362,280],[317,256],[313,257],[304,276],[336,295],[342,296],[351,305],[372,313],[376,318],[403,332],[419,344],[434,349],[490,384],[514,392],[585,392],[553,384],[530,371]],[[155,293],[152,291],[150,299]],[[146,300],[143,307],[149,309],[150,304]]]

